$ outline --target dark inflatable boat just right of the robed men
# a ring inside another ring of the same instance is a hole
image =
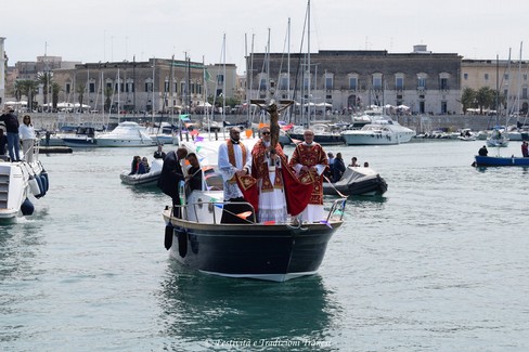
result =
[[[349,166],[339,181],[323,183],[323,194],[333,196],[375,196],[387,190],[386,180],[375,170],[364,167]]]

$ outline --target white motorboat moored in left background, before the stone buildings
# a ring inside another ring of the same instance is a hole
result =
[[[137,122],[120,122],[114,130],[95,136],[98,146],[152,146],[156,143]]]

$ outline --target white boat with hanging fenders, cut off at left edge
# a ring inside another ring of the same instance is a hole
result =
[[[48,192],[49,177],[38,159],[38,145],[34,151],[31,162],[0,158],[0,219],[33,214],[30,198],[38,199]]]

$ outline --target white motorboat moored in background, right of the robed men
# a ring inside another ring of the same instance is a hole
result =
[[[408,143],[415,131],[401,126],[388,116],[373,120],[360,130],[345,130],[341,138],[347,145],[382,145]]]

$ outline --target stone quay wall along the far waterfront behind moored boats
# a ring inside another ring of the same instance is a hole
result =
[[[20,119],[23,115],[31,116],[31,120],[36,129],[43,130],[57,130],[61,126],[76,126],[79,123],[89,123],[95,126],[115,126],[119,120],[133,120],[138,122],[151,122],[153,121],[152,116],[144,115],[121,115],[118,116],[105,116],[102,115],[91,115],[91,114],[47,114],[47,113],[30,113],[30,114],[18,114]],[[191,120],[201,121],[203,119],[202,115],[193,115]],[[221,116],[216,115],[215,120],[219,121]],[[246,115],[227,115],[227,121],[230,122],[244,122],[247,120]],[[502,117],[496,122],[495,116],[485,116],[485,115],[404,115],[404,116],[392,116],[393,120],[397,120],[400,125],[407,126],[417,133],[431,132],[436,130],[448,130],[457,131],[459,129],[469,128],[473,131],[480,131],[491,129],[495,125],[506,125],[505,118]],[[160,120],[160,116],[154,117],[155,121]],[[170,121],[171,117],[164,115],[162,117],[163,121]],[[173,116],[173,120],[178,121],[178,115]],[[296,119],[299,120],[299,119]],[[315,122],[319,121],[319,118]],[[345,115],[333,115],[326,118],[326,121],[332,122],[351,122],[351,117]],[[508,121],[508,125],[515,125],[515,120]]]

